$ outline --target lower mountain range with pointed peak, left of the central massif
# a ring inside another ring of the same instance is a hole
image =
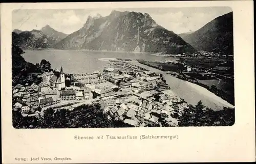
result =
[[[66,36],[67,34],[58,32],[49,25],[44,26],[41,30],[24,32],[14,30],[12,32],[13,43],[23,49],[52,48]]]

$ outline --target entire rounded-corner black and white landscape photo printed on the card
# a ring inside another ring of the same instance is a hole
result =
[[[16,129],[232,126],[230,7],[12,11]]]

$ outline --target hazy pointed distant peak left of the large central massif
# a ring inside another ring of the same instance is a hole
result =
[[[54,30],[48,24],[46,26],[44,26],[40,31],[42,32],[42,34],[47,35],[48,37],[52,38],[53,40],[56,40],[56,42],[58,42],[68,36],[67,34],[64,34],[64,33]]]

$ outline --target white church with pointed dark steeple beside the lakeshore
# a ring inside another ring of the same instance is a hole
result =
[[[63,72],[62,67],[60,68],[60,72],[56,72],[50,79],[50,86],[56,87],[57,90],[61,90],[61,88],[65,88],[65,73]]]

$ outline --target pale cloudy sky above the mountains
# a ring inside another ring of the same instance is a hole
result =
[[[228,7],[14,10],[12,30],[40,30],[48,24],[59,32],[71,34],[86,23],[89,15],[108,16],[112,10],[148,13],[159,25],[176,34],[196,31],[216,17],[231,12]]]

